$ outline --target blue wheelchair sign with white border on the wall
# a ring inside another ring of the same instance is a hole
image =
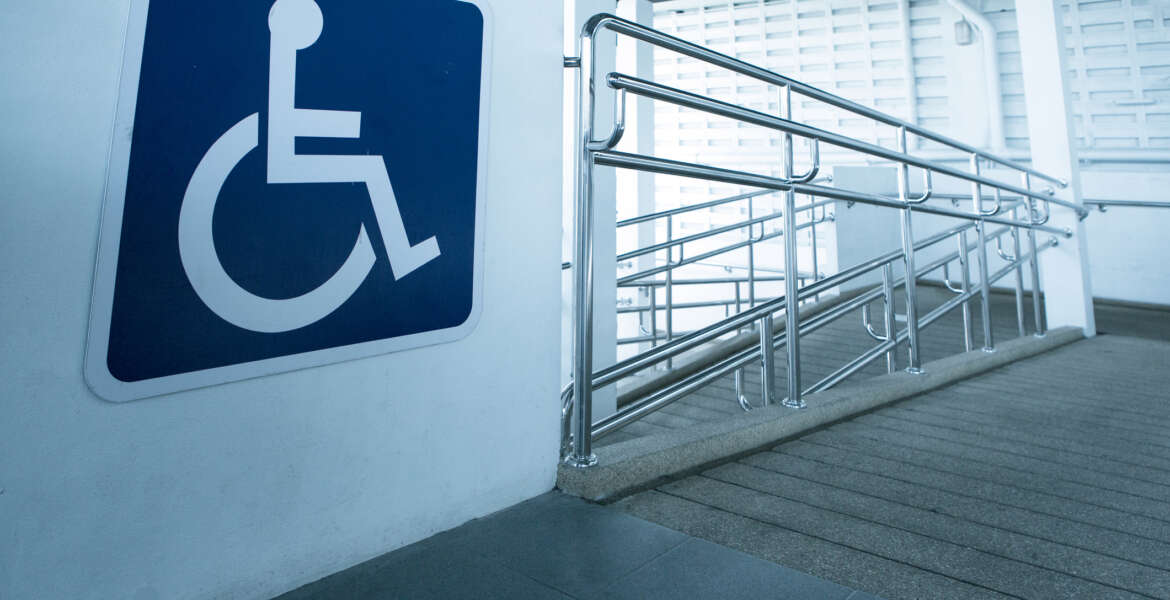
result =
[[[113,401],[459,339],[480,2],[133,0],[87,380]]]

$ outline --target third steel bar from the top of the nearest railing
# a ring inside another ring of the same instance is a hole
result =
[[[696,179],[706,179],[709,181],[722,181],[724,184],[766,187],[782,192],[787,192],[792,189],[796,191],[798,194],[806,194],[820,198],[833,198],[837,200],[845,200],[847,202],[848,201],[861,202],[874,206],[883,206],[887,208],[911,208],[913,211],[920,213],[952,216],[955,219],[965,219],[969,221],[985,221],[991,223],[1006,225],[1011,227],[1024,227],[1026,229],[1047,232],[1057,235],[1064,235],[1066,237],[1072,235],[1072,232],[1067,229],[1057,229],[1054,227],[1032,225],[1030,222],[1025,223],[1012,219],[1004,219],[998,216],[978,216],[970,213],[964,213],[962,211],[951,211],[948,208],[941,208],[937,206],[929,206],[929,205],[911,205],[897,200],[892,200],[886,196],[865,194],[861,192],[853,192],[848,189],[838,189],[835,187],[825,187],[811,184],[787,184],[784,180],[773,177],[757,175],[755,173],[732,171],[730,168],[696,165],[694,163],[683,163],[680,160],[670,160],[666,158],[647,157],[642,154],[631,154],[626,152],[613,152],[613,151],[597,152],[593,154],[593,158],[596,164],[603,166],[632,168],[638,171],[649,171],[652,173],[663,173],[668,175],[690,177]]]

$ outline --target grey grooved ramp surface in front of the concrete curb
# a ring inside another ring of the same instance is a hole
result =
[[[619,506],[892,600],[1170,598],[1170,343],[1078,342]]]

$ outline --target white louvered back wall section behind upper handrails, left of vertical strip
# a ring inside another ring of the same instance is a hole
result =
[[[901,2],[892,0],[670,0],[655,5],[654,26],[855,102],[909,117],[913,104],[907,94],[903,19]],[[778,88],[673,53],[655,50],[655,80],[755,110],[779,110]],[[893,144],[890,127],[800,96],[794,99],[793,112],[805,123]],[[780,136],[773,131],[662,104],[656,106],[655,116],[660,156],[779,174]],[[841,152],[824,147],[823,154],[832,160]],[[806,156],[805,147],[797,149],[798,170]],[[660,178],[658,188],[666,206],[735,193],[725,186],[665,181]]]

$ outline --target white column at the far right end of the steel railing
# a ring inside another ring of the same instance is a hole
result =
[[[1054,186],[1057,198],[1080,204],[1081,178],[1065,82],[1062,11],[1057,0],[1017,0],[1016,20],[1019,25],[1032,165],[1041,173],[1068,181],[1066,188]],[[1035,181],[1035,186],[1041,185],[1046,184]],[[1040,255],[1048,326],[1078,326],[1085,330],[1086,336],[1094,336],[1096,323],[1085,223],[1072,211],[1053,207],[1049,225],[1067,227],[1074,235],[1061,239],[1060,246]]]

